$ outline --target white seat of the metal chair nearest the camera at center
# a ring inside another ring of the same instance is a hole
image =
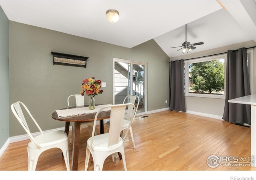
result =
[[[91,145],[91,139],[89,138],[87,140],[87,144],[90,146]],[[104,133],[104,134],[100,134],[97,136],[94,136],[93,138],[93,150],[94,151],[112,151],[113,149],[116,149],[120,146],[122,146],[123,144],[123,140],[121,137],[119,137],[119,141],[117,144],[115,144],[114,146],[108,146],[108,139],[109,139],[109,133]]]

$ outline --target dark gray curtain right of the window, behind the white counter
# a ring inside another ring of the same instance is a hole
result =
[[[251,124],[251,107],[228,100],[250,95],[246,48],[229,50],[226,67],[226,99],[222,119],[231,123]]]

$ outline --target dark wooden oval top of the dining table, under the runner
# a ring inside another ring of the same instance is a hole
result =
[[[86,107],[86,106],[79,106],[79,108],[80,107]],[[78,107],[74,106],[74,107],[69,107],[69,109],[70,108],[78,108]],[[68,109],[68,108],[63,108],[63,109]],[[57,112],[55,111],[52,113],[52,118],[55,120],[68,121],[68,122],[86,122],[86,121],[93,121],[95,118],[95,115],[96,115],[96,112],[90,113],[90,114],[80,114],[75,116],[67,116],[67,117],[59,118]],[[100,112],[98,114],[97,120],[102,120],[107,118],[110,118],[110,110]]]

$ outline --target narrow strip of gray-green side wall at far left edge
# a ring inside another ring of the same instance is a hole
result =
[[[9,20],[0,6],[0,148],[9,138]]]

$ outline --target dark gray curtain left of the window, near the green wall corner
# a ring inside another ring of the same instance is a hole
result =
[[[176,60],[170,62],[169,81],[170,110],[186,112],[183,60]]]

